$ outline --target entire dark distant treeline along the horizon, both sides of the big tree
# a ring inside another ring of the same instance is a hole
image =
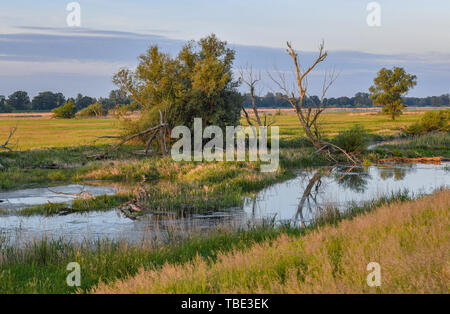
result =
[[[335,108],[367,108],[373,107],[373,102],[369,98],[369,93],[357,93],[353,97],[327,98],[325,102],[328,107]],[[244,94],[244,106],[251,107],[249,94]],[[27,92],[16,91],[5,97],[0,95],[0,113],[15,111],[51,111],[60,107],[70,98],[66,98],[62,93],[41,92],[33,99],[30,99]],[[94,98],[78,94],[72,98],[76,109],[81,110],[94,103],[101,103],[106,110],[112,109],[117,105],[129,105],[133,100],[120,90],[112,90],[107,98]],[[409,107],[441,107],[450,106],[449,94],[441,96],[431,96],[425,98],[406,97],[403,99],[405,105]],[[312,106],[320,102],[317,96],[307,97],[305,106]],[[291,105],[284,100],[281,93],[267,93],[265,96],[256,96],[256,104],[259,108],[290,108]]]

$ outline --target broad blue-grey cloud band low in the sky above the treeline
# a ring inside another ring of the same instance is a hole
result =
[[[175,55],[184,43],[161,34],[21,26],[16,32],[0,34],[0,94],[23,89],[18,78],[26,77],[32,94],[39,91],[37,88],[52,90],[58,86],[71,95],[93,92],[93,96],[104,96],[113,88],[113,73],[123,66],[135,66],[137,56],[150,45],[158,44],[163,51]],[[251,64],[263,73],[273,71],[275,66],[281,71],[291,70],[291,60],[284,49],[231,46],[236,50],[236,67]],[[300,52],[302,64],[310,63],[315,55],[316,52]],[[419,85],[412,94],[449,92],[446,82],[450,81],[450,54],[388,55],[358,51],[330,51],[327,62],[320,65],[311,79],[311,92],[314,93],[313,86],[321,86],[321,74],[332,67],[341,76],[330,93],[351,96],[366,91],[381,67],[396,65],[418,75]],[[61,86],[61,75],[67,86]],[[93,88],[93,84],[98,88]],[[269,88],[270,84],[266,79],[265,85]]]

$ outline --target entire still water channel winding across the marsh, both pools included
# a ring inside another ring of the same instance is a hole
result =
[[[449,164],[317,168],[299,171],[296,178],[262,190],[254,197],[247,198],[240,208],[184,218],[146,215],[133,221],[117,210],[67,216],[23,217],[12,211],[0,216],[0,237],[4,243],[11,244],[43,237],[63,238],[73,242],[110,239],[136,243],[148,239],[164,239],[168,234],[174,233],[182,236],[188,232],[202,232],[219,227],[238,228],[263,219],[307,224],[314,219],[318,210],[326,207],[345,210],[350,203],[369,201],[404,190],[419,195],[432,193],[441,187],[450,187]],[[52,191],[79,193],[81,188],[92,195],[114,193],[113,188],[75,185],[52,188]],[[48,189],[0,193],[0,208],[17,209],[24,205],[46,203],[47,200],[73,200],[70,195],[48,193]]]

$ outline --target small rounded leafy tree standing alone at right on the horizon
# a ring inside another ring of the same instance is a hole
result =
[[[405,108],[402,96],[417,84],[416,79],[415,75],[406,73],[403,68],[382,68],[374,79],[374,85],[369,88],[370,98],[375,105],[383,106],[383,112],[395,120]]]

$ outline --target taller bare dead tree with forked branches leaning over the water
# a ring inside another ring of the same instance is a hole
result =
[[[290,86],[284,72],[276,71],[278,73],[277,78],[275,78],[270,73],[268,73],[268,75],[278,86],[278,88],[280,88],[283,92],[283,98],[294,108],[300,124],[306,134],[306,137],[318,152],[330,155],[329,149],[335,149],[343,153],[352,163],[357,164],[356,158],[350,156],[350,154],[348,154],[342,148],[332,143],[324,142],[322,140],[318,125],[319,117],[327,107],[327,103],[325,101],[326,93],[338,77],[334,70],[325,74],[320,100],[318,102],[315,102],[308,108],[305,108],[304,106],[306,100],[305,97],[308,96],[308,75],[319,63],[323,62],[328,56],[328,52],[325,50],[324,42],[322,41],[319,46],[319,54],[316,57],[315,61],[312,63],[312,65],[305,68],[305,70],[302,70],[298,53],[294,50],[291,43],[289,42],[287,42],[286,51],[292,58],[292,61],[294,63],[295,83]],[[313,100],[311,97],[310,99]]]

